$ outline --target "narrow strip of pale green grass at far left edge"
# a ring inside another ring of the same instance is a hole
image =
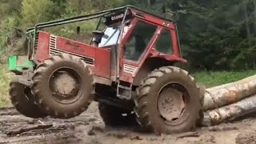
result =
[[[10,73],[7,65],[0,65],[0,107],[10,106],[9,83]]]

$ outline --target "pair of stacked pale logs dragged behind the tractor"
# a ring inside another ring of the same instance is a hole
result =
[[[256,111],[256,75],[204,92],[203,126],[213,126]]]

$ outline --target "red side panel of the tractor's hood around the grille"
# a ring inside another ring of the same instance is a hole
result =
[[[110,50],[90,46],[67,38],[56,37],[46,32],[39,32],[36,60],[42,62],[51,54],[68,53],[89,59],[94,75],[110,79]]]

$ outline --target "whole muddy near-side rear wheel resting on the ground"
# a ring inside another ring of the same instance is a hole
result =
[[[134,97],[138,123],[156,134],[182,133],[195,128],[202,110],[194,78],[174,66],[154,70]]]

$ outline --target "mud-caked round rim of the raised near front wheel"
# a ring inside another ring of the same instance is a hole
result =
[[[55,70],[49,79],[52,97],[62,104],[76,102],[82,95],[81,75],[70,67]]]

